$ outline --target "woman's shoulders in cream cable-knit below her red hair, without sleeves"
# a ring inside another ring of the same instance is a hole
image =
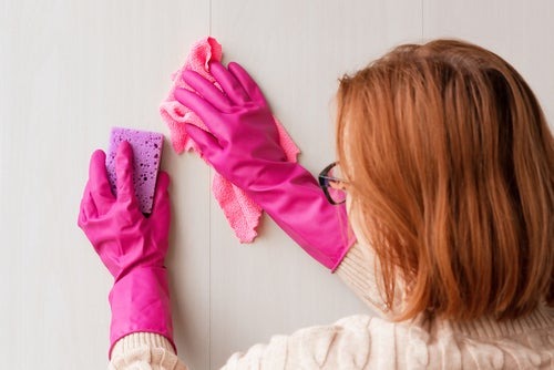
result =
[[[425,320],[422,316],[394,322],[353,315],[289,336],[274,336],[267,345],[233,354],[225,369],[243,369],[246,364],[278,369],[554,367],[552,310],[534,312],[526,320],[526,327],[520,321],[511,322],[513,331],[502,326],[486,327],[491,322],[473,322],[474,330],[468,331],[451,321]]]

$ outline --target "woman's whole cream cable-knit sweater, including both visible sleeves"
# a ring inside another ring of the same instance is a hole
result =
[[[355,245],[337,275],[373,310],[382,309],[372,257]],[[399,298],[401,299],[401,298]],[[170,342],[153,333],[117,341],[111,370],[183,370]],[[391,322],[358,315],[275,336],[233,354],[222,369],[554,369],[554,309],[509,322],[482,318]]]

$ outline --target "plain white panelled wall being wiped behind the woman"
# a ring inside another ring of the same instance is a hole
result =
[[[316,173],[334,160],[337,79],[400,42],[455,37],[513,63],[554,121],[551,0],[0,1],[0,358],[4,369],[102,369],[111,278],[76,215],[110,127],[168,134],[157,105],[211,33],[256,78]],[[212,172],[166,145],[175,339],[193,369],[365,311],[267,217],[239,245]],[[6,362],[7,361],[7,362]]]

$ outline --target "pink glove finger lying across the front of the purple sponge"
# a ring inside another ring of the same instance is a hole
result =
[[[137,207],[133,184],[133,148],[129,142],[121,142],[115,154],[115,176],[117,177],[117,202]]]

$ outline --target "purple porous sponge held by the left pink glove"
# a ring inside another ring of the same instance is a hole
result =
[[[110,148],[106,157],[106,169],[113,194],[116,194],[115,153],[122,141],[127,141],[133,148],[134,176],[138,208],[144,214],[152,212],[157,171],[162,160],[164,135],[156,132],[113,127],[110,135]]]

